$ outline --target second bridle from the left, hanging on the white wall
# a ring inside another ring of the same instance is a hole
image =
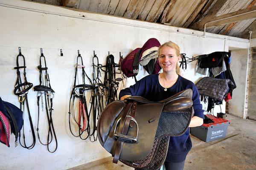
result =
[[[44,59],[44,67],[42,67],[42,59]],[[37,105],[38,105],[38,122],[37,122],[37,134],[38,134],[38,139],[39,142],[45,146],[47,146],[47,150],[50,153],[54,153],[57,150],[58,147],[58,142],[57,142],[57,137],[55,134],[53,122],[52,122],[52,99],[54,98],[55,91],[52,90],[51,85],[50,85],[50,79],[49,79],[49,74],[47,72],[47,65],[46,65],[46,60],[41,48],[41,56],[40,56],[40,65],[38,66],[39,70],[39,81],[40,84],[36,85],[34,87],[34,91],[37,91]],[[44,74],[43,74],[44,72]],[[43,95],[44,94],[44,95]],[[39,136],[39,113],[40,113],[40,106],[39,106],[39,101],[41,98],[41,107],[42,111],[44,111],[44,102],[43,102],[43,96],[45,99],[45,110],[46,110],[46,115],[47,115],[47,121],[48,121],[48,133],[47,133],[47,143],[43,143],[40,139]],[[48,109],[49,108],[49,109]],[[55,148],[54,150],[49,149],[49,144],[52,142],[52,139],[55,139]]]

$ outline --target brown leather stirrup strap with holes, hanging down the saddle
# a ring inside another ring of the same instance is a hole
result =
[[[132,126],[132,127],[134,126],[134,124],[131,125],[131,123],[132,123],[131,122],[131,117],[133,117],[133,118],[135,117],[136,108],[137,108],[137,102],[136,101],[128,103],[128,105],[125,108],[124,114],[122,114],[118,133],[122,133],[124,135],[127,135],[129,126]],[[131,115],[131,117],[129,117],[129,115]],[[124,141],[117,139],[117,141],[116,141],[116,150],[115,150],[115,155],[114,155],[114,158],[113,158],[113,163],[117,164],[117,162],[119,160],[119,157],[121,155],[121,151],[122,151],[122,147],[123,147],[124,143],[125,143]]]

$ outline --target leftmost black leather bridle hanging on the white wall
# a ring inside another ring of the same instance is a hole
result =
[[[22,59],[23,59],[23,66],[19,65],[19,57],[22,57]],[[24,144],[21,144],[20,132],[19,132],[19,142],[20,142],[20,145],[22,147],[24,147],[26,149],[32,149],[35,146],[35,131],[34,131],[33,122],[32,122],[30,111],[29,111],[29,103],[28,103],[27,94],[28,94],[29,89],[32,88],[33,84],[30,83],[30,82],[27,82],[25,57],[21,54],[20,47],[19,47],[19,54],[16,57],[16,65],[17,65],[17,67],[15,67],[14,69],[17,70],[17,80],[16,80],[16,83],[15,83],[14,94],[18,96],[18,100],[20,102],[20,110],[23,111],[23,143]],[[21,76],[20,76],[20,69],[21,68],[23,68],[24,82],[22,82],[22,79],[21,79]],[[25,103],[26,103],[26,108],[28,110],[27,112],[28,112],[28,116],[29,116],[30,129],[31,129],[32,136],[33,136],[33,142],[29,146],[26,145],[25,133],[24,133]],[[15,146],[17,146],[17,137],[15,137]]]

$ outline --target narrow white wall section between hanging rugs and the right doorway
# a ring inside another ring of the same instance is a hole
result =
[[[247,49],[231,51],[230,70],[232,71],[237,88],[233,91],[233,99],[228,102],[229,113],[244,119],[247,114],[244,113],[245,96],[241,94],[246,92],[247,56]]]

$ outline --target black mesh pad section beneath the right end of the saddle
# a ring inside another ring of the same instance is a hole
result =
[[[186,132],[192,117],[193,108],[185,111],[175,111],[169,113],[161,113],[156,137],[163,135],[180,136]]]

